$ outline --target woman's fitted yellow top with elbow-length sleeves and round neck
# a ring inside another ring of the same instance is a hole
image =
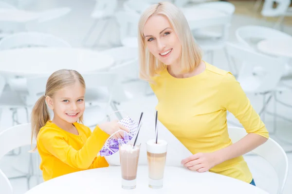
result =
[[[193,154],[230,146],[226,113],[240,121],[248,133],[268,138],[269,133],[235,77],[208,63],[199,75],[178,79],[165,68],[150,83],[158,104],[159,120]],[[210,172],[250,183],[252,174],[243,157],[222,162]]]

